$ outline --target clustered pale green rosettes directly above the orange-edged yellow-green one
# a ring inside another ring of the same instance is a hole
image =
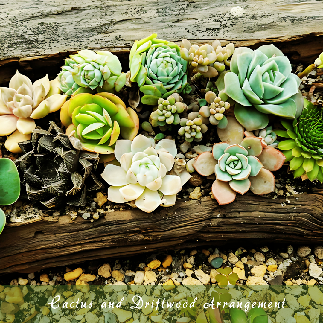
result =
[[[69,57],[57,77],[64,94],[79,94],[84,88],[114,93],[124,87],[126,74],[121,72],[120,61],[111,52],[83,49]]]

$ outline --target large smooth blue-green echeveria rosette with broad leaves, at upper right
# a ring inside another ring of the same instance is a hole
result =
[[[234,114],[245,129],[259,130],[267,127],[267,114],[287,119],[300,116],[301,80],[291,71],[288,58],[274,45],[254,51],[239,47],[232,55],[230,72],[221,74],[217,85],[237,102]]]

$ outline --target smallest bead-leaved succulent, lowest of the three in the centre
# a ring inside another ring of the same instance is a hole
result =
[[[207,131],[207,126],[202,123],[202,119],[198,117],[199,112],[191,112],[188,114],[187,118],[182,118],[180,120],[180,125],[182,126],[178,130],[180,136],[184,136],[185,140],[191,141],[201,141],[203,138],[203,133]]]

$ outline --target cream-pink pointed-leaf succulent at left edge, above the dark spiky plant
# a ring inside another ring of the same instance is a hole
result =
[[[34,119],[46,117],[57,111],[66,101],[56,80],[48,76],[32,83],[18,70],[9,82],[9,88],[0,88],[0,136],[8,136],[5,148],[13,153],[21,152],[18,142],[30,139],[36,128]]]

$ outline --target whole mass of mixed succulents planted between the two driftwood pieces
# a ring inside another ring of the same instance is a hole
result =
[[[32,83],[17,71],[0,88],[0,135],[22,153],[16,165],[29,200],[48,208],[84,205],[87,192],[102,189],[99,160],[107,199],[147,213],[174,205],[195,171],[214,181],[219,204],[275,191],[284,163],[294,177],[323,182],[322,110],[299,90],[301,77],[323,67],[322,55],[296,75],[274,45],[179,46],[152,34],[134,42],[123,73],[109,51],[80,50],[54,80]],[[60,123],[58,113],[49,120],[58,110]],[[48,130],[37,125],[44,117]],[[16,166],[1,158],[0,167],[13,178],[0,204],[13,203]],[[0,231],[4,223],[0,213]]]

